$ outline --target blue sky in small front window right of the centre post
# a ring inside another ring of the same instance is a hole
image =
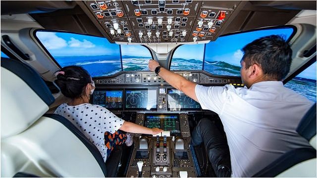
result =
[[[175,50],[173,58],[203,60],[204,45],[181,45]]]

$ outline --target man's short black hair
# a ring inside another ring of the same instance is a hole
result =
[[[245,68],[259,64],[264,76],[269,79],[281,81],[290,70],[292,49],[281,36],[271,35],[259,38],[244,46],[242,51]]]

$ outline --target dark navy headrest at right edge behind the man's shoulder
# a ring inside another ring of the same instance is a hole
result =
[[[296,132],[308,141],[316,135],[316,103],[307,111]]]

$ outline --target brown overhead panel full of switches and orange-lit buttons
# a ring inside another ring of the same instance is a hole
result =
[[[186,43],[214,41],[240,1],[84,1],[114,42]]]

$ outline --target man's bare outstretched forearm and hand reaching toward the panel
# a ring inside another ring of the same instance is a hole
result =
[[[152,72],[154,72],[158,66],[159,66],[159,62],[152,59],[149,61],[149,69]],[[195,87],[197,84],[190,82],[184,77],[178,74],[175,74],[173,72],[170,72],[169,70],[163,67],[160,68],[159,76],[163,78],[172,87],[180,91],[183,91],[187,96],[191,97],[192,99],[198,102],[198,99],[195,93]]]

